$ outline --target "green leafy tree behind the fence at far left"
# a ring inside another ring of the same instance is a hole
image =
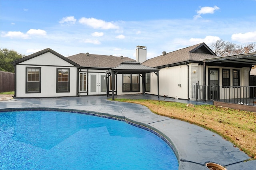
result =
[[[7,72],[14,72],[12,62],[18,60],[25,55],[17,53],[14,50],[0,49],[0,70]]]

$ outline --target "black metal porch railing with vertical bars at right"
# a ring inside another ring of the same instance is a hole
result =
[[[192,98],[256,106],[256,86],[192,85]]]

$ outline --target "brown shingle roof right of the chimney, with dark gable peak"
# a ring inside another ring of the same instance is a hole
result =
[[[148,59],[142,64],[150,67],[161,67],[187,61],[202,61],[214,57],[217,57],[214,52],[205,43],[200,43]]]

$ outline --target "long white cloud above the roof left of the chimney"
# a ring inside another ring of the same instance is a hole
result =
[[[88,25],[94,29],[119,29],[117,25],[114,25],[111,22],[106,22],[103,20],[97,20],[95,18],[81,18],[79,23],[83,25]]]

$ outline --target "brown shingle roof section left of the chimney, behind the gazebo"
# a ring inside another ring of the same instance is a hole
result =
[[[82,67],[93,68],[114,68],[124,61],[134,61],[129,57],[116,57],[113,55],[96,55],[80,53],[67,57],[68,59],[78,63]]]

